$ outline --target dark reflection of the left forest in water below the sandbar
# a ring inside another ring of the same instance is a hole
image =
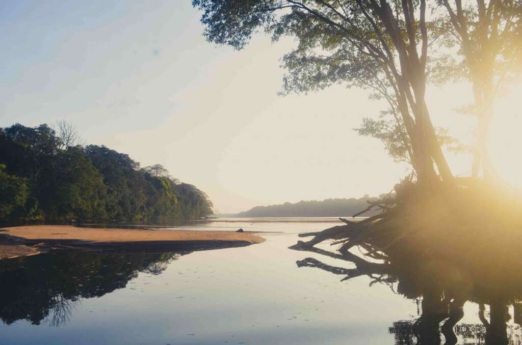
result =
[[[139,272],[158,275],[185,253],[55,253],[0,261],[0,319],[59,326],[82,298],[124,288]]]

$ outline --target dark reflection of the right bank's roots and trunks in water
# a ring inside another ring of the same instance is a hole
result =
[[[522,344],[522,304],[518,302],[522,300],[522,291],[518,289],[520,281],[515,274],[512,280],[497,281],[487,279],[488,272],[478,278],[450,263],[429,261],[399,268],[389,262],[369,262],[352,253],[341,255],[318,248],[294,249],[324,254],[356,266],[331,266],[307,257],[296,262],[298,267],[315,267],[345,276],[341,281],[369,276],[372,279],[370,285],[383,282],[394,292],[420,301],[419,318],[397,321],[389,327],[396,345]],[[489,274],[494,276],[494,273]],[[463,307],[467,301],[479,305],[481,324],[457,325],[464,317]],[[515,324],[508,324],[512,318],[508,312],[511,305]]]

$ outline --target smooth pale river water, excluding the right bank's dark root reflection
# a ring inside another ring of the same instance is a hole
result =
[[[296,265],[313,257],[350,267],[334,258],[288,249],[298,233],[334,226],[334,219],[258,220],[220,219],[172,227],[267,231],[260,234],[266,242],[243,248],[177,254],[59,253],[11,261],[0,271],[0,343],[416,343],[411,332],[398,335],[390,327],[418,318],[418,301],[396,293],[393,285],[369,287],[368,276],[340,282],[343,276]],[[459,324],[476,325],[467,338],[459,336],[459,343],[481,343],[477,304],[465,304]],[[512,318],[509,334],[516,337],[519,331]]]

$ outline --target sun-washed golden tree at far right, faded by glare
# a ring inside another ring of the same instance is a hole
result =
[[[520,64],[520,15],[522,3],[513,0],[484,0],[462,3],[461,0],[438,0],[447,10],[446,35],[464,57],[453,69],[464,71],[472,83],[474,110],[477,114],[477,145],[473,154],[472,176],[482,166],[483,176],[492,178],[494,169],[486,142],[493,117],[494,98],[506,76],[517,72]],[[474,4],[473,4],[474,3]],[[454,73],[454,76],[462,73]]]

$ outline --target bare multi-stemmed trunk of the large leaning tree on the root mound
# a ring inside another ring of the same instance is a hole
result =
[[[388,66],[393,71],[397,99],[405,124],[411,118],[409,110],[413,113],[413,128],[408,131],[411,140],[412,164],[417,172],[419,182],[429,182],[438,179],[433,166],[435,161],[437,168],[444,180],[450,180],[453,175],[442,153],[441,146],[436,138],[435,129],[431,124],[430,114],[425,103],[426,91],[426,60],[428,58],[428,30],[425,24],[425,0],[420,0],[419,22],[415,19],[414,5],[412,1],[402,1],[402,12],[406,22],[408,43],[404,38],[401,24],[395,17],[390,5],[381,0],[372,2],[372,7],[381,18],[386,32],[393,40],[398,53],[400,73],[395,67],[395,61],[388,60]],[[417,51],[417,30],[419,26],[421,36],[419,38],[420,55]],[[391,78],[390,78],[391,79]],[[401,104],[402,103],[402,104]],[[408,107],[409,105],[409,107]],[[408,129],[408,127],[407,127]]]

